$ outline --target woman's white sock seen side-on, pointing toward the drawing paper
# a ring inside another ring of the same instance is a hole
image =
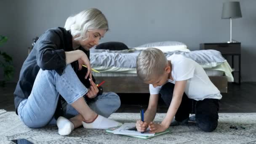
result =
[[[96,120],[94,120],[92,123],[83,122],[84,128],[95,128],[95,129],[107,129],[107,128],[113,128],[119,125],[122,125],[122,123],[119,123],[115,120],[110,120],[101,115],[98,115]]]

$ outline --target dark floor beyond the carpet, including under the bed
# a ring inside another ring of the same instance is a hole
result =
[[[15,83],[8,83],[5,88],[0,88],[0,109],[14,111],[13,91]],[[229,83],[228,93],[222,93],[219,112],[256,112],[256,82]],[[118,93],[121,107],[117,112],[139,112],[141,107],[147,109],[148,93]],[[162,99],[159,101],[157,112],[167,112]]]

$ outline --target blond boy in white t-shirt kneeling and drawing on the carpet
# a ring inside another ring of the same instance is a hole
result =
[[[216,129],[222,96],[197,62],[177,54],[166,59],[159,49],[147,48],[141,51],[136,64],[137,75],[149,84],[150,92],[144,122],[136,123],[138,131],[145,131],[147,127],[151,133],[165,131],[171,123],[187,123],[189,113],[194,111],[200,129],[207,132]],[[159,93],[169,108],[161,123],[153,123]]]

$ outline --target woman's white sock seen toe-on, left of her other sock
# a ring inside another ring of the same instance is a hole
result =
[[[69,135],[74,130],[74,127],[75,127],[75,125],[71,121],[61,116],[57,120],[57,126],[59,128],[59,134],[61,136]]]

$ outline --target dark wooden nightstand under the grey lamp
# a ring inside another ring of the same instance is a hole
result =
[[[231,56],[231,67],[234,68],[234,56],[238,56],[238,70],[234,70],[232,72],[232,75],[234,76],[234,73],[238,73],[238,84],[241,82],[241,43],[201,43],[200,44],[200,50],[217,50],[220,51],[221,54],[224,57]]]

